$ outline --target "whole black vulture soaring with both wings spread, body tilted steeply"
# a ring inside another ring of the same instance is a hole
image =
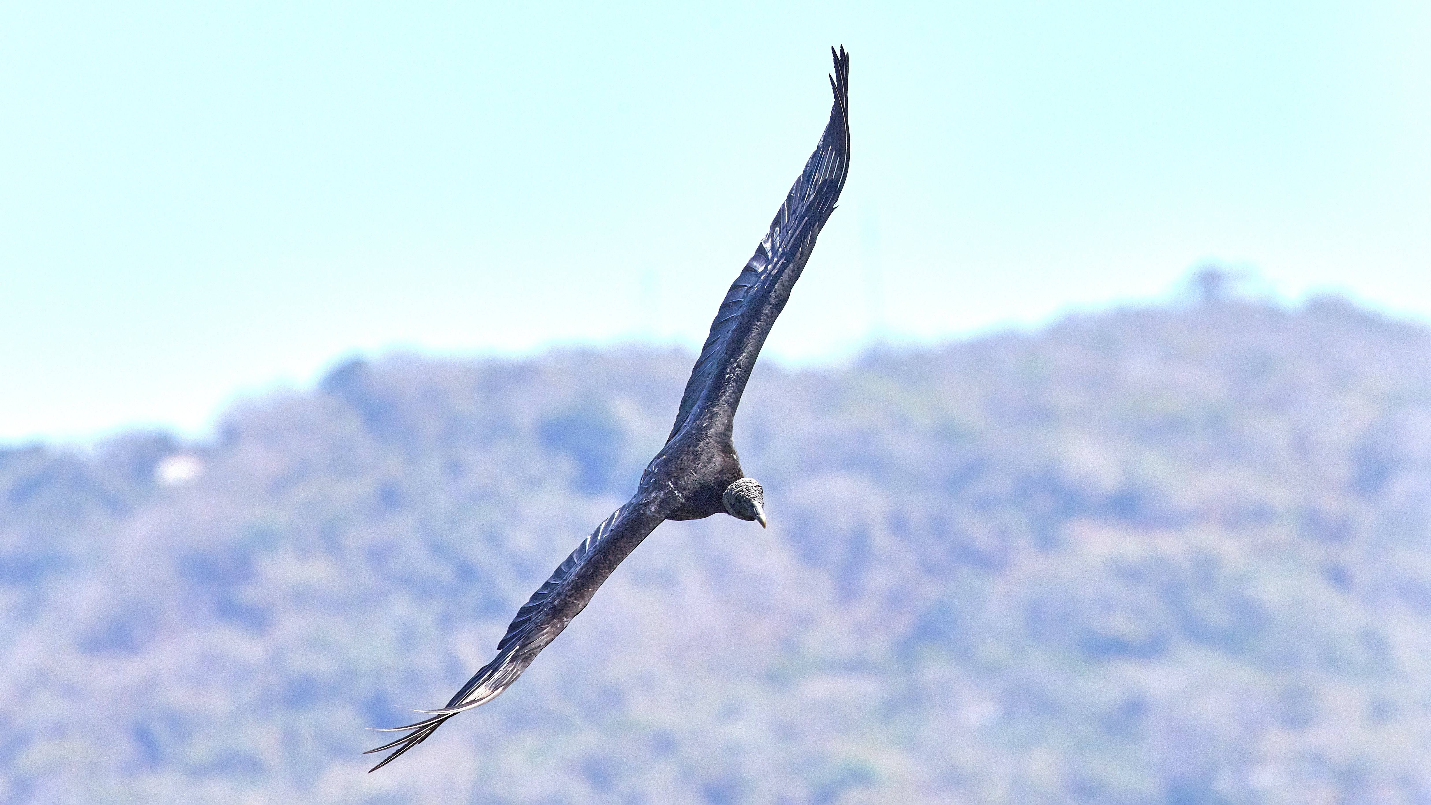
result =
[[[382,731],[406,735],[365,752],[392,751],[371,771],[426,741],[449,718],[485,705],[507,690],[585,609],[617,564],[663,520],[700,520],[726,513],[766,524],[764,490],[741,473],[731,425],[760,347],[800,279],[814,251],[816,236],[834,212],[850,169],[850,56],[844,47],[839,52],[830,49],[830,54],[834,57],[834,74],[830,76],[834,107],[820,145],[786,195],[786,203],[776,212],[754,256],[726,292],[685,384],[671,435],[641,474],[635,496],[602,520],[517,610],[517,617],[497,645],[497,657],[482,666],[445,708],[418,710],[431,718]]]

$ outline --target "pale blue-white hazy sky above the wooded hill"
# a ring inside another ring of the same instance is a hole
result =
[[[10,3],[0,438],[200,433],[395,347],[694,347],[839,43],[850,179],[767,355],[1208,259],[1428,317],[1428,42],[1375,0]]]

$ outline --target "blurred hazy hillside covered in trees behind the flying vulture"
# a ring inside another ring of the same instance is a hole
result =
[[[363,773],[690,365],[391,357],[213,444],[0,453],[0,802],[1431,802],[1431,331],[1337,299],[761,365],[770,529],[664,524]]]

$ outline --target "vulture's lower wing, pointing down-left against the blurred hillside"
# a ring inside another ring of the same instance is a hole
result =
[[[611,576],[617,564],[621,564],[621,560],[630,556],[635,546],[641,544],[641,540],[661,524],[664,517],[664,513],[644,506],[637,498],[602,520],[597,530],[591,531],[591,536],[582,540],[577,550],[571,551],[571,556],[552,572],[541,589],[532,593],[522,609],[517,610],[517,617],[507,627],[502,642],[497,645],[497,657],[482,666],[482,670],[478,670],[445,708],[418,710],[429,713],[432,718],[379,731],[406,732],[406,735],[392,743],[363,752],[363,755],[371,755],[392,749],[391,755],[369,771],[375,772],[386,766],[398,755],[426,741],[446,719],[491,702],[512,682],[517,682],[517,678],[527,670],[537,655],[557,635],[561,635],[572,617],[577,617],[587,607],[591,596],[597,593],[597,587],[607,580],[607,576]]]

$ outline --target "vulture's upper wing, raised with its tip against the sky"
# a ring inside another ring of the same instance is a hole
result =
[[[705,428],[730,427],[760,347],[800,279],[816,236],[834,212],[850,170],[850,56],[843,47],[839,53],[830,49],[830,53],[834,56],[830,123],[770,222],[766,238],[726,294],[685,384],[681,410],[667,441],[675,438],[697,413],[694,418],[704,420]]]

